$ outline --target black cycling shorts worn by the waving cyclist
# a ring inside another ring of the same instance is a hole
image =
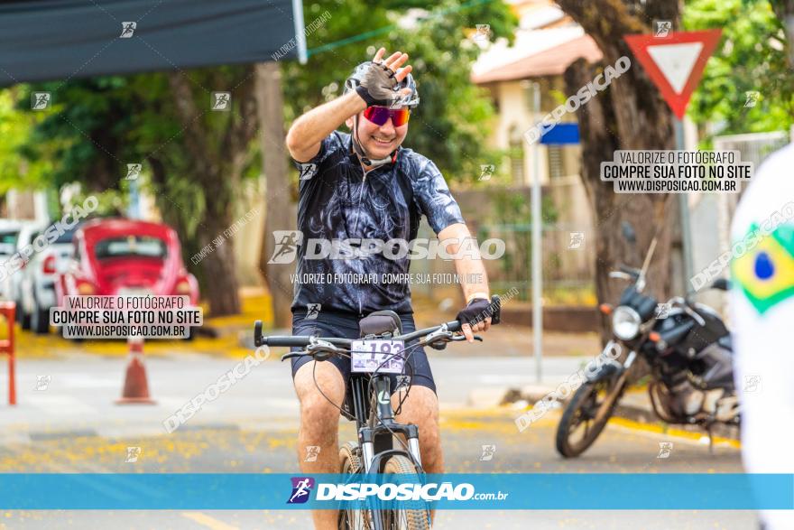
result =
[[[357,315],[352,313],[320,311],[317,319],[306,319],[306,311],[295,311],[292,313],[292,335],[308,337],[317,335],[319,337],[338,337],[342,339],[359,339]],[[411,313],[400,315],[402,321],[402,333],[411,333],[416,330]],[[405,345],[407,352],[404,367],[404,375],[411,376],[411,386],[427,386],[434,393],[436,392],[436,382],[433,380],[433,373],[430,371],[430,364],[425,350],[417,347],[418,340],[412,340]],[[291,351],[300,351],[300,348],[292,348]],[[292,358],[292,378],[298,373],[298,368],[312,360],[309,356]],[[350,359],[343,357],[332,357],[327,361],[333,364],[342,374],[347,386],[347,379],[350,377]],[[392,392],[397,388],[398,379],[396,374],[389,374],[391,379]]]

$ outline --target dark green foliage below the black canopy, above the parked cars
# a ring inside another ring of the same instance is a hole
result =
[[[250,71],[250,67],[234,66],[182,74],[191,83],[191,98],[199,109],[197,121],[208,138],[208,155],[222,167],[228,159],[223,135],[235,113],[209,111],[209,92],[238,86]],[[4,148],[32,167],[46,167],[39,182],[49,181],[56,189],[80,182],[86,192],[105,194],[109,212],[118,213],[125,208],[126,164],[143,163],[148,178],[140,183],[152,192],[164,219],[179,228],[183,237],[195,236],[208,213],[208,200],[205,188],[196,185],[199,168],[189,156],[167,74],[77,79],[23,85],[18,90],[14,116],[21,122],[33,120],[34,125],[28,126],[27,135],[20,135],[18,144],[4,144]],[[51,109],[32,112],[29,99],[33,91],[50,91]],[[7,92],[2,93],[7,98]],[[232,101],[234,104],[234,91]],[[162,167],[156,179],[152,178],[152,162]],[[247,174],[258,174],[251,165]],[[0,171],[5,177],[6,170]],[[26,183],[36,185],[32,179]],[[214,198],[217,207],[213,213],[225,212],[235,193],[233,184],[223,181],[222,191]]]

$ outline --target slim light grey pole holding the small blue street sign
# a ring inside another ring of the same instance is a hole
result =
[[[540,84],[534,83],[532,90],[534,112],[540,123]],[[543,307],[542,271],[540,270],[540,143],[535,142],[532,148],[532,338],[535,341],[535,378],[538,383],[542,377],[541,361],[543,346]]]

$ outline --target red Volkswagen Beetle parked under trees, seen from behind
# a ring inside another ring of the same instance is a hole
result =
[[[162,223],[95,219],[78,229],[74,257],[56,282],[58,304],[75,294],[180,294],[199,303],[199,283],[182,263],[180,239]]]

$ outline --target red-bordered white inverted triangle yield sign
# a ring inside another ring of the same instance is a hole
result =
[[[673,113],[684,119],[689,98],[721,34],[722,30],[716,29],[672,32],[664,37],[639,34],[623,38]]]

